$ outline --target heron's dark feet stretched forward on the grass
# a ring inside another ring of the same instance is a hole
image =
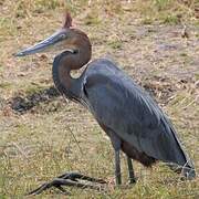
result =
[[[92,178],[88,176],[84,176],[80,172],[66,172],[54,178],[50,182],[41,185],[39,188],[30,191],[28,195],[40,195],[44,190],[50,189],[52,187],[57,188],[59,190],[61,190],[62,193],[70,195],[70,192],[65,190],[62,186],[77,187],[83,189],[90,188],[101,191],[104,189],[103,185],[105,184],[106,181],[104,181],[103,179]]]

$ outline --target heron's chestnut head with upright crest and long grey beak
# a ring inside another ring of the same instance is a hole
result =
[[[27,48],[14,55],[25,56],[49,51],[69,51],[72,54],[84,51],[84,55],[85,51],[87,51],[88,56],[91,57],[90,40],[84,32],[72,28],[72,18],[70,13],[66,13],[63,27],[60,30],[38,44]]]

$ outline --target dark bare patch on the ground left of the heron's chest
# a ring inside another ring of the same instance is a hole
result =
[[[25,113],[32,109],[34,106],[39,105],[40,103],[48,103],[54,101],[56,97],[60,96],[60,93],[55,87],[50,87],[42,90],[38,93],[33,93],[27,96],[14,96],[9,100],[8,104],[10,107],[15,111],[17,113]]]

